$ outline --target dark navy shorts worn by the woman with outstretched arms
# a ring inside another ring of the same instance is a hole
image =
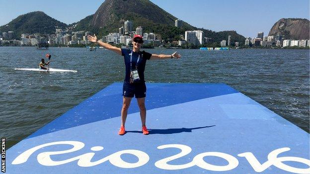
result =
[[[146,97],[147,87],[145,83],[133,83],[124,82],[123,84],[123,96],[133,98],[134,96],[138,98]]]

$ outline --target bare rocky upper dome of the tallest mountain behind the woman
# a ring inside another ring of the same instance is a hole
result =
[[[135,20],[135,25],[174,25],[177,18],[167,13],[150,0],[105,0],[95,12],[91,26],[119,27],[124,21]]]

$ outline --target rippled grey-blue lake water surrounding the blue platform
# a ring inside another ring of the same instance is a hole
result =
[[[174,50],[150,49],[154,54]],[[226,83],[309,132],[309,50],[177,50],[181,59],[147,61],[148,82]],[[51,67],[77,73],[16,71]],[[121,56],[99,49],[0,47],[0,132],[11,147],[113,82],[124,79]],[[121,96],[120,96],[121,100]],[[121,106],[120,106],[121,108]]]

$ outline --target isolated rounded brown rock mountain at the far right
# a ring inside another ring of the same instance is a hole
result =
[[[300,18],[283,18],[270,29],[269,36],[285,35],[286,39],[309,39],[309,20]]]

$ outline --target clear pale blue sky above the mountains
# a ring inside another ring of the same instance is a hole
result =
[[[199,28],[235,30],[244,37],[268,35],[281,18],[310,19],[310,0],[151,0]],[[43,11],[67,24],[94,14],[104,0],[0,0],[0,26],[21,14]],[[143,10],[143,9],[141,9]]]

